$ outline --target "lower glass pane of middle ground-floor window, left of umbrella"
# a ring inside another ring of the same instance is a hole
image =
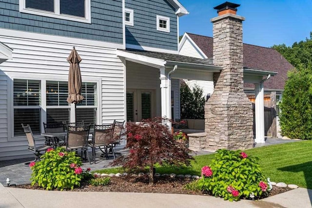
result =
[[[65,121],[69,123],[69,109],[68,108],[48,108],[47,109],[47,123],[62,123]]]

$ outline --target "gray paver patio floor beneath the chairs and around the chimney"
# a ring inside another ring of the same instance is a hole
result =
[[[272,139],[267,138],[266,143],[264,144],[255,144],[255,147],[262,147],[262,146],[268,146],[268,145],[274,145],[274,144],[283,144],[288,142],[297,142],[300,140],[285,140],[285,139]],[[117,152],[120,152],[122,154],[127,154],[127,150],[116,150]],[[100,154],[101,152],[98,152]],[[207,151],[207,150],[199,150],[194,151],[192,155],[204,155],[204,154],[212,154],[213,151]],[[91,168],[91,170],[99,170],[104,168],[110,168],[109,165],[113,161],[113,156],[110,154],[109,159],[97,159],[97,163],[94,164],[92,161],[92,164],[90,165],[88,162],[83,163],[83,168]],[[15,159],[15,160],[6,160],[6,161],[0,161],[0,183],[3,186],[6,186],[6,179],[10,178],[11,185],[22,185],[22,184],[29,184],[31,183],[30,177],[32,170],[28,167],[28,165],[24,165],[24,163],[34,160],[34,158],[23,158],[23,159]]]

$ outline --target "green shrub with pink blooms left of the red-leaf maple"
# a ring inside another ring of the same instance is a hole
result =
[[[32,185],[38,183],[44,189],[74,189],[85,177],[93,177],[90,169],[83,172],[81,159],[76,152],[67,152],[63,148],[50,148],[40,157],[41,161],[29,164],[32,173]]]

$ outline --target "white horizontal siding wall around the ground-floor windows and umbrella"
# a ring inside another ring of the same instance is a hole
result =
[[[82,45],[80,39],[73,40],[77,41],[76,50],[82,58],[82,81],[98,82],[98,123],[125,120],[123,63],[116,56],[116,49]],[[68,80],[66,58],[73,44],[5,36],[0,36],[0,42],[13,49],[13,59],[0,64],[0,160],[32,156],[27,151],[26,137],[11,135],[12,79]]]

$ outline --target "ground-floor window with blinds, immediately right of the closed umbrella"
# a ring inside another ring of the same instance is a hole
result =
[[[76,121],[85,124],[95,124],[97,114],[97,85],[96,83],[82,82],[82,96],[84,100],[77,104]]]

